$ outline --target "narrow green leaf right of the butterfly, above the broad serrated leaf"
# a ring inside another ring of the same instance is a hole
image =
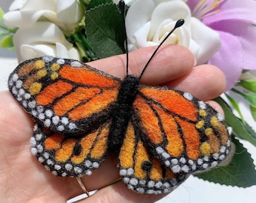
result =
[[[232,127],[233,134],[238,138],[249,141],[256,147],[256,133],[252,129],[248,131],[248,129],[245,127],[248,126],[248,124],[242,123],[242,120],[233,114],[229,105],[227,105],[227,103],[221,97],[215,98],[215,102],[218,102],[218,104],[221,105],[221,108],[223,108],[225,123],[227,126]]]

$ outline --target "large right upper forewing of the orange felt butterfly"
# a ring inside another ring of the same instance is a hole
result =
[[[140,86],[133,106],[137,135],[175,174],[215,167],[230,152],[221,114],[190,93]]]

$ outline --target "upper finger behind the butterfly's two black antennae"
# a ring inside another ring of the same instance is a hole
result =
[[[145,47],[130,52],[130,74],[139,77],[155,49],[156,47]],[[123,78],[126,76],[125,54],[90,62],[88,65],[116,77]],[[156,56],[149,63],[141,82],[154,85],[174,80],[190,72],[193,66],[194,56],[187,48],[175,45],[164,46],[158,50]]]

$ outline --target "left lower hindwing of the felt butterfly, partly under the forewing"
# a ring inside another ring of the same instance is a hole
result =
[[[90,175],[105,160],[108,150],[109,123],[81,136],[62,135],[35,125],[32,154],[53,174],[81,177]]]

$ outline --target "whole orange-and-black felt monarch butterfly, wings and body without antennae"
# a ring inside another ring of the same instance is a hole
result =
[[[90,175],[112,151],[129,189],[160,194],[230,152],[221,114],[188,92],[51,56],[21,63],[8,83],[38,123],[32,153],[58,176]]]

